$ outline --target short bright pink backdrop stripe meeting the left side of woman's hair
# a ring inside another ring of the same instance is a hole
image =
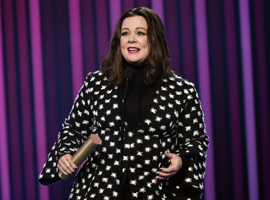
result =
[[[121,1],[120,0],[109,0],[110,9],[110,33],[113,35],[117,21],[121,17]]]

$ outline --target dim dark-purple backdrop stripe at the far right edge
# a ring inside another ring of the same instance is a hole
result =
[[[255,10],[255,35],[256,35],[256,56],[257,56],[257,70],[258,70],[258,94],[259,94],[259,124],[261,128],[261,150],[262,155],[262,191],[263,196],[268,196],[270,187],[269,177],[269,163],[270,163],[270,135],[269,135],[269,100],[267,97],[267,70],[266,70],[266,55],[265,55],[265,34],[264,34],[264,16],[262,0],[254,1]]]

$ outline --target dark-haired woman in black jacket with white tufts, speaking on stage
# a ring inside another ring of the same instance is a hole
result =
[[[74,174],[71,156],[91,135],[101,144],[76,174],[70,199],[118,199],[124,70],[122,199],[200,199],[208,137],[194,85],[175,75],[163,24],[134,8],[117,23],[101,71],[90,73],[39,176],[43,185]]]

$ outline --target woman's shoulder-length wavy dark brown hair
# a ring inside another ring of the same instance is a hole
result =
[[[166,76],[173,76],[170,68],[170,54],[164,34],[163,23],[156,12],[140,7],[127,10],[117,22],[109,51],[103,57],[100,67],[109,85],[119,85],[124,79],[126,65],[120,49],[121,27],[124,19],[143,16],[147,22],[147,40],[149,57],[144,68],[144,83],[147,86],[158,85]]]

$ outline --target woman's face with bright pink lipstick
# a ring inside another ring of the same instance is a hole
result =
[[[143,16],[124,19],[120,47],[124,59],[131,65],[139,66],[147,62],[149,55],[147,23]]]

